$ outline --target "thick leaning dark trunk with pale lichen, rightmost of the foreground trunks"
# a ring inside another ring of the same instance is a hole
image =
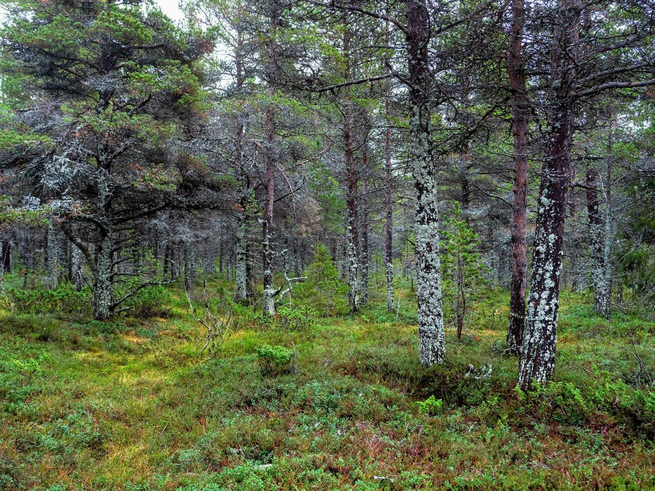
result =
[[[527,323],[521,346],[518,385],[546,382],[555,371],[559,274],[562,265],[564,217],[571,181],[573,92],[580,28],[578,0],[561,0],[553,31],[552,75],[548,93],[546,159],[542,168],[534,232],[533,270]]]

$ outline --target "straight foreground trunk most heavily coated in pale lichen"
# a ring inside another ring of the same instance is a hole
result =
[[[441,308],[439,209],[432,160],[428,69],[429,15],[424,0],[407,0],[409,81],[409,149],[414,178],[415,249],[419,317],[419,358],[429,367],[443,363],[445,333]]]

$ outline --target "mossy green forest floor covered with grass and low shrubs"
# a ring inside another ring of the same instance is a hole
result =
[[[240,322],[203,360],[171,291],[164,318],[0,312],[0,488],[655,488],[655,391],[624,349],[653,366],[643,319],[563,293],[555,382],[522,393],[517,358],[492,350],[502,291],[429,370],[410,299],[299,330]],[[265,344],[295,346],[295,373],[266,373]]]

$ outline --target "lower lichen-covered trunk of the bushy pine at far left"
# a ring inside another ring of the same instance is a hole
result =
[[[113,243],[111,234],[101,231],[94,251],[93,318],[105,321],[113,315]]]

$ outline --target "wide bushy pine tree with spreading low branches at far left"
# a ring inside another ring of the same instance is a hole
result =
[[[30,136],[1,139],[4,166],[24,173],[29,206],[51,212],[83,252],[96,319],[158,281],[117,270],[140,220],[220,202],[195,199],[203,164],[181,143],[208,107],[198,59],[212,43],[141,3],[9,2],[0,33],[5,97]],[[133,287],[116,291],[119,278]]]

